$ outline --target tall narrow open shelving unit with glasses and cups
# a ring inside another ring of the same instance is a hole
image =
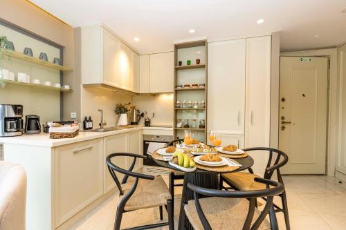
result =
[[[208,79],[208,60],[206,40],[189,41],[174,44],[174,138],[183,138],[185,130],[191,131],[192,136],[200,142],[206,142],[207,137],[207,79]],[[195,59],[200,59],[200,64],[196,64]],[[186,65],[187,60],[192,61],[191,65]],[[182,61],[183,65],[178,66]],[[178,84],[206,84],[201,88],[176,88]],[[176,101],[180,102],[201,102],[206,103],[205,108],[176,108]],[[195,126],[188,128],[177,127],[178,119],[194,120]],[[204,119],[204,128],[199,128],[199,121]]]

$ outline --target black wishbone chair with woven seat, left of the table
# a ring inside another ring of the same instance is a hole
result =
[[[121,156],[134,157],[129,170],[122,169],[111,162],[112,158]],[[169,226],[170,230],[174,230],[172,198],[167,185],[161,176],[154,177],[153,175],[132,172],[137,158],[145,159],[146,156],[133,153],[112,153],[106,158],[109,173],[111,173],[111,177],[113,178],[114,182],[116,182],[116,186],[118,186],[120,197],[122,196],[116,211],[114,230],[120,229],[122,213],[127,211],[159,207],[160,219],[163,220],[163,206],[165,206],[167,210],[168,222],[159,222],[140,227],[132,227],[127,230],[154,229],[156,227],[163,227],[167,225]],[[121,184],[116,176],[116,172],[125,175],[124,178],[122,178]],[[134,180],[129,180],[129,182],[127,182],[129,177],[134,178]]]

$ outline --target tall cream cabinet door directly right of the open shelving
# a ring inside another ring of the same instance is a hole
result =
[[[208,44],[208,129],[244,135],[246,39]]]

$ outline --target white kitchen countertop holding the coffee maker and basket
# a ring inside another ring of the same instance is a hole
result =
[[[64,144],[72,144],[75,142],[83,142],[86,140],[92,140],[92,139],[96,139],[100,137],[107,137],[107,136],[116,135],[119,133],[138,131],[141,129],[143,129],[142,126],[136,126],[131,128],[125,128],[118,131],[109,131],[109,132],[103,132],[103,133],[80,131],[76,137],[64,138],[64,139],[51,139],[49,138],[48,133],[39,133],[39,134],[30,134],[30,135],[24,134],[17,137],[0,137],[0,143],[55,147],[55,146],[61,146]]]

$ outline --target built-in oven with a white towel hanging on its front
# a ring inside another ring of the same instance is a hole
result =
[[[170,135],[143,135],[143,154],[150,155],[156,149],[163,148],[167,143],[172,142]],[[144,166],[158,166],[150,157],[143,160]]]

